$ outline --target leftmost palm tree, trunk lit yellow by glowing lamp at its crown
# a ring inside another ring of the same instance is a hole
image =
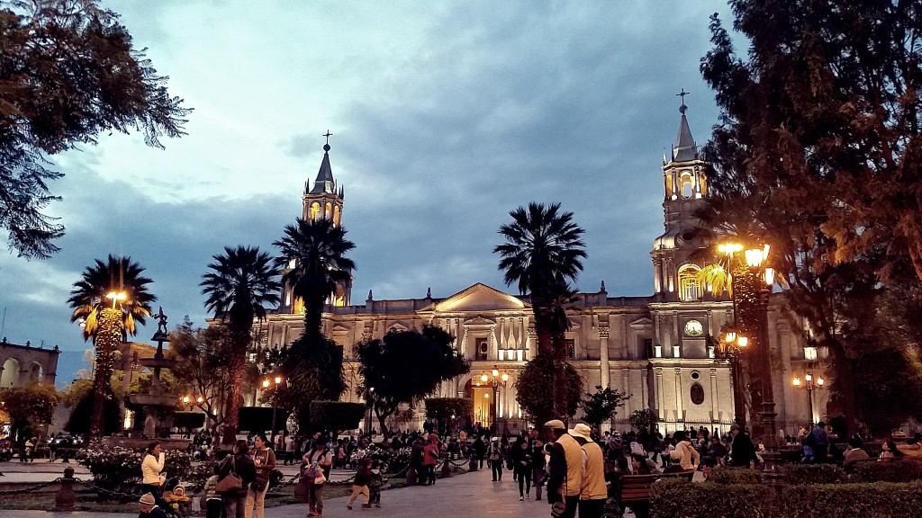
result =
[[[99,438],[103,432],[102,409],[112,394],[110,380],[115,354],[121,340],[137,334],[136,324],[150,316],[150,304],[157,300],[148,291],[153,282],[131,257],[109,255],[103,263],[88,266],[74,283],[67,303],[74,312],[70,321],[81,321],[84,341],[92,338],[96,347],[96,375],[93,379],[93,416],[89,436]],[[111,304],[110,305],[110,301]]]

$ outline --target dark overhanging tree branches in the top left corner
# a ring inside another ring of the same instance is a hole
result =
[[[118,15],[96,0],[0,2],[0,227],[25,257],[58,251],[64,234],[42,210],[57,197],[47,156],[95,144],[102,132],[184,135],[183,100],[151,66]]]

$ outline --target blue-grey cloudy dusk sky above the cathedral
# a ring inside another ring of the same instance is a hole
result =
[[[586,230],[578,288],[604,279],[609,296],[649,295],[675,94],[691,92],[702,145],[717,118],[698,72],[708,17],[729,20],[720,0],[103,5],[195,109],[189,135],[165,150],[100,135],[53,157],[66,173],[51,208],[63,251],[0,255],[0,335],[14,343],[84,349],[66,299],[108,253],[147,268],[171,325],[204,324],[197,285],[211,256],[238,244],[275,253],[327,129],[357,245],[353,302],[369,289],[377,300],[475,282],[514,291],[492,248],[531,201],[560,202]]]

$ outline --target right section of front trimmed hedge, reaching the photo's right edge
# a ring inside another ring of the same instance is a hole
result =
[[[822,518],[913,516],[919,509],[922,509],[922,483],[878,482],[876,484],[788,486],[782,491],[782,497],[777,504],[780,507],[780,516],[822,516]]]

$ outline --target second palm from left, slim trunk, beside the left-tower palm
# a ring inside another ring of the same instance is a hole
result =
[[[205,307],[215,318],[226,321],[231,331],[231,391],[225,400],[224,444],[237,438],[238,411],[242,400],[246,349],[251,342],[253,321],[266,318],[264,305],[278,304],[278,270],[272,257],[258,247],[225,247],[224,254],[213,255],[211,270],[199,283],[207,295]]]

